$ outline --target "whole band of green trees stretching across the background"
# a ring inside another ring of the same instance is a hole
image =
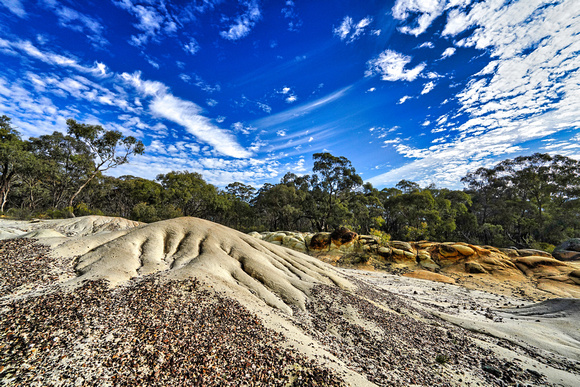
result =
[[[241,231],[332,231],[348,227],[399,240],[465,241],[550,249],[580,234],[580,162],[536,153],[480,168],[464,190],[420,187],[402,180],[378,190],[351,162],[313,155],[309,175],[287,173],[256,189],[224,189],[196,172],[155,180],[104,172],[142,154],[130,136],[67,121],[67,133],[22,140],[0,117],[0,210],[14,217],[89,214],[155,222],[179,216],[212,220]]]

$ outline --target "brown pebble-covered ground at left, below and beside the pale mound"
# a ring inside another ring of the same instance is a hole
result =
[[[46,285],[58,260],[30,241],[0,247],[3,295]],[[240,303],[195,279],[150,275],[109,289],[4,297],[0,384],[7,386],[341,386],[327,369],[282,347]]]

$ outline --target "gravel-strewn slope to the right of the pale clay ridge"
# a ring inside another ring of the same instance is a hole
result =
[[[317,286],[307,313],[295,310],[294,315],[305,331],[373,383],[469,386],[484,381],[484,385],[497,386],[546,385],[543,375],[500,361],[492,351],[477,346],[473,340],[476,335],[471,332],[413,308],[392,293],[377,292],[356,282],[356,294]],[[392,310],[369,300],[389,305]]]

